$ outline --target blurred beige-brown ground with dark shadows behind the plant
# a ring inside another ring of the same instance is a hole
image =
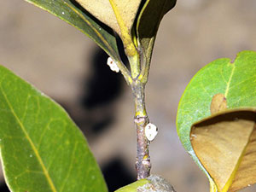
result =
[[[177,192],[209,188],[177,137],[183,90],[201,67],[244,49],[256,50],[255,0],[177,0],[161,22],[146,89],[150,120],[159,127],[150,154],[152,173],[166,177]],[[107,59],[66,22],[25,1],[1,1],[0,63],[67,109],[112,192],[135,181],[137,149],[131,90]],[[3,173],[1,182],[0,191],[8,191]]]

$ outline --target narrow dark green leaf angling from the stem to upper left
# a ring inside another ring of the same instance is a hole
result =
[[[93,39],[114,60],[120,61],[116,38],[111,30],[71,0],[26,0],[41,9],[67,21]]]

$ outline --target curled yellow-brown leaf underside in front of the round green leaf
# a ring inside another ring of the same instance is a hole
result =
[[[193,125],[192,147],[218,191],[233,192],[256,183],[255,120],[255,109],[238,108],[215,113]]]

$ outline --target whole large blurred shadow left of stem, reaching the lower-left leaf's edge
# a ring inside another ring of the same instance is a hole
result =
[[[73,106],[57,100],[84,132],[89,143],[111,127],[118,113],[117,100],[125,90],[123,76],[111,71],[107,65],[108,55],[100,48],[91,55],[91,61],[84,62],[84,65],[91,66],[90,76],[84,77],[77,104]]]

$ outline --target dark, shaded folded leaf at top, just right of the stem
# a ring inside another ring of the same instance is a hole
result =
[[[176,4],[176,0],[147,0],[137,20],[137,38],[150,63],[154,40],[163,16]]]

